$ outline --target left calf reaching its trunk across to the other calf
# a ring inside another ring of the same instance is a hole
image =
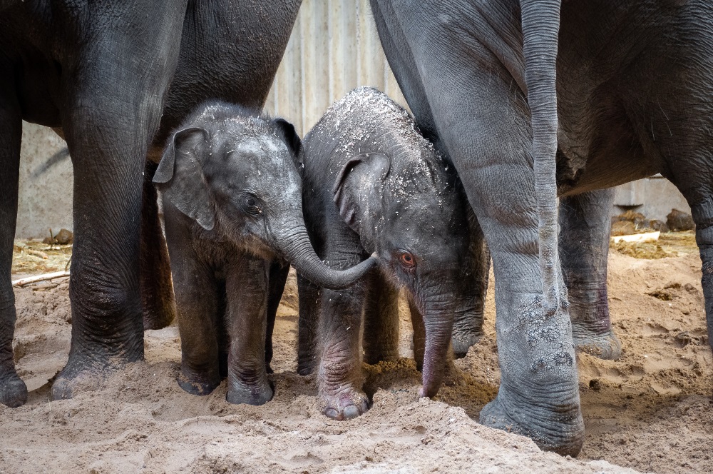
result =
[[[231,104],[199,107],[173,133],[153,178],[178,309],[178,383],[205,395],[227,373],[227,400],[252,405],[273,395],[265,341],[284,261],[329,288],[348,286],[375,263],[335,271],[319,260],[302,217],[294,164],[301,142],[287,121],[258,115]]]

